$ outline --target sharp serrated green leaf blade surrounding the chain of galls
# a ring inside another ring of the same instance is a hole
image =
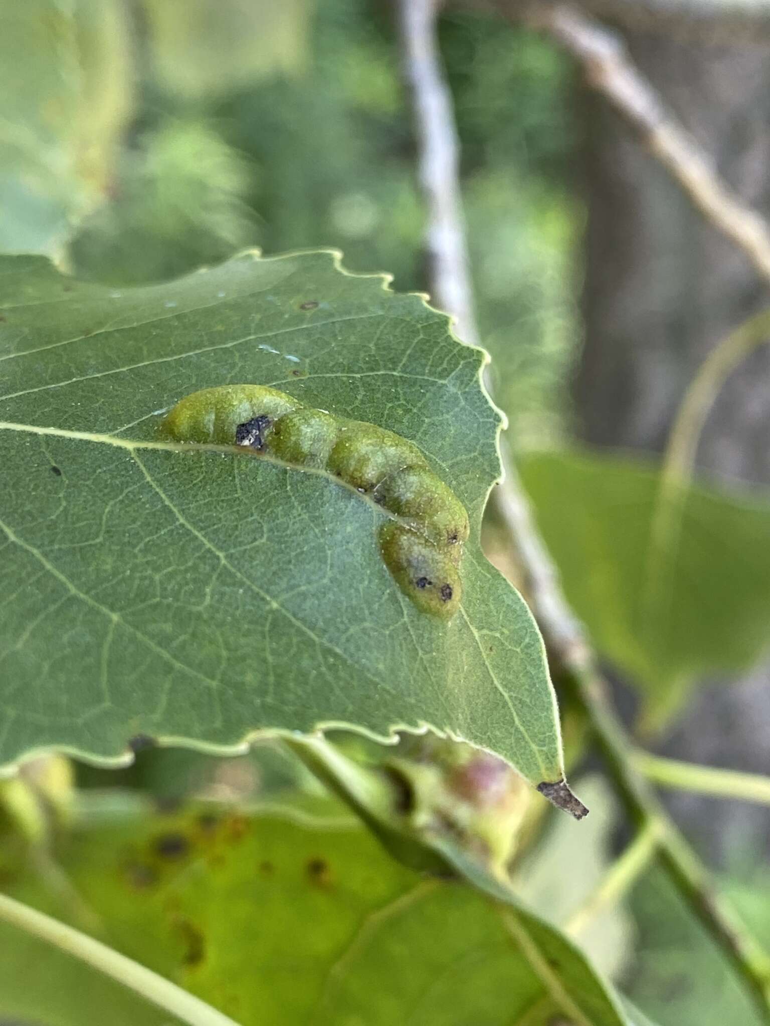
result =
[[[122,291],[42,259],[2,268],[0,761],[116,759],[136,735],[205,748],[431,723],[534,784],[563,776],[542,640],[478,544],[499,473],[485,356],[447,317],[324,252]],[[383,510],[336,479],[142,447],[182,396],[243,381],[421,447],[472,525],[454,620],[401,594]]]

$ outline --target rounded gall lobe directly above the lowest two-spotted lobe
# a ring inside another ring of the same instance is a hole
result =
[[[375,502],[391,513],[413,520],[440,549],[459,559],[468,539],[468,513],[455,492],[428,467],[405,467],[375,488]]]

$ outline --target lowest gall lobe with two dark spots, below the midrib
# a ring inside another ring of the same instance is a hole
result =
[[[422,613],[451,620],[462,585],[452,558],[426,538],[397,523],[380,528],[380,552],[398,587]]]

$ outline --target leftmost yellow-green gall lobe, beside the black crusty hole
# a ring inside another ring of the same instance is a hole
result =
[[[244,440],[248,433],[238,432],[238,428],[264,419],[261,431],[265,431],[277,418],[301,405],[291,395],[264,385],[222,385],[180,399],[163,418],[160,430],[166,438],[178,442],[253,444]],[[257,430],[257,434],[261,435],[261,431]],[[260,440],[254,447],[261,445]]]

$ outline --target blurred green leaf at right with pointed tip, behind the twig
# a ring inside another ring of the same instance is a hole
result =
[[[671,708],[706,674],[767,649],[770,503],[693,484],[668,555],[670,590],[646,620],[650,524],[660,478],[644,463],[588,452],[521,459],[567,598],[601,653],[652,706]]]

